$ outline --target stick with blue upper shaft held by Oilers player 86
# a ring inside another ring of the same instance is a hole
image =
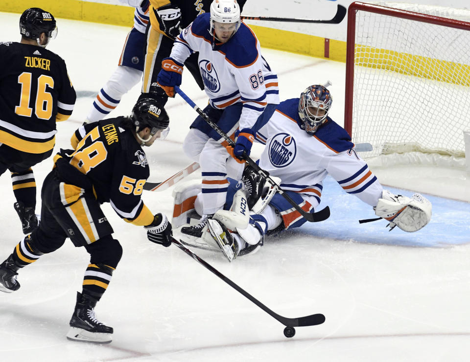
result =
[[[178,87],[174,87],[175,91],[196,111],[204,120],[211,126],[211,128],[217,132],[220,136],[222,136],[229,145],[235,146],[235,142],[233,141],[232,138],[227,136],[225,132],[223,132],[212,120],[209,118],[209,116],[204,113],[196,104]],[[273,179],[269,177],[269,175],[266,173],[266,171],[262,170],[258,164],[253,160],[253,158],[250,158],[246,155],[243,157],[248,164],[253,167],[253,169],[261,176],[265,177],[266,180],[273,186],[276,187],[278,190],[278,193],[289,203],[291,204],[301,215],[304,217],[307,221],[311,223],[316,223],[319,221],[324,221],[329,218],[329,207],[325,207],[324,209],[310,213],[308,211],[305,211],[302,207],[299,206],[294,200],[291,199],[287,193],[282,190],[282,188],[275,182]]]

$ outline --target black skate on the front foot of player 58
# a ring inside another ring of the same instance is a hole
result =
[[[77,303],[70,320],[67,339],[92,343],[110,343],[113,340],[113,328],[96,319],[96,302],[97,299],[93,296],[77,292]]]

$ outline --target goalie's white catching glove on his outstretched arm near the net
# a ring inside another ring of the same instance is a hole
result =
[[[413,194],[411,199],[406,196],[394,195],[383,190],[374,210],[376,215],[388,220],[392,230],[395,226],[403,231],[413,232],[426,226],[431,220],[431,203],[420,194]],[[389,231],[390,231],[389,230]]]

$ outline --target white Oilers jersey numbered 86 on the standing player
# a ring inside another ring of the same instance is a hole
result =
[[[279,103],[278,77],[261,56],[259,41],[244,23],[225,44],[209,33],[210,14],[199,15],[177,37],[171,57],[180,63],[199,52],[199,71],[214,108],[243,103],[239,128],[251,128],[268,103]]]

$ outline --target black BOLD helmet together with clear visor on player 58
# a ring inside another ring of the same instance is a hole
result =
[[[130,118],[136,127],[136,136],[141,140],[142,145],[150,141],[152,137],[164,139],[170,130],[168,127],[170,119],[166,111],[153,98],[140,99],[132,109]],[[143,139],[139,136],[139,132],[145,127],[150,128],[150,136]]]

